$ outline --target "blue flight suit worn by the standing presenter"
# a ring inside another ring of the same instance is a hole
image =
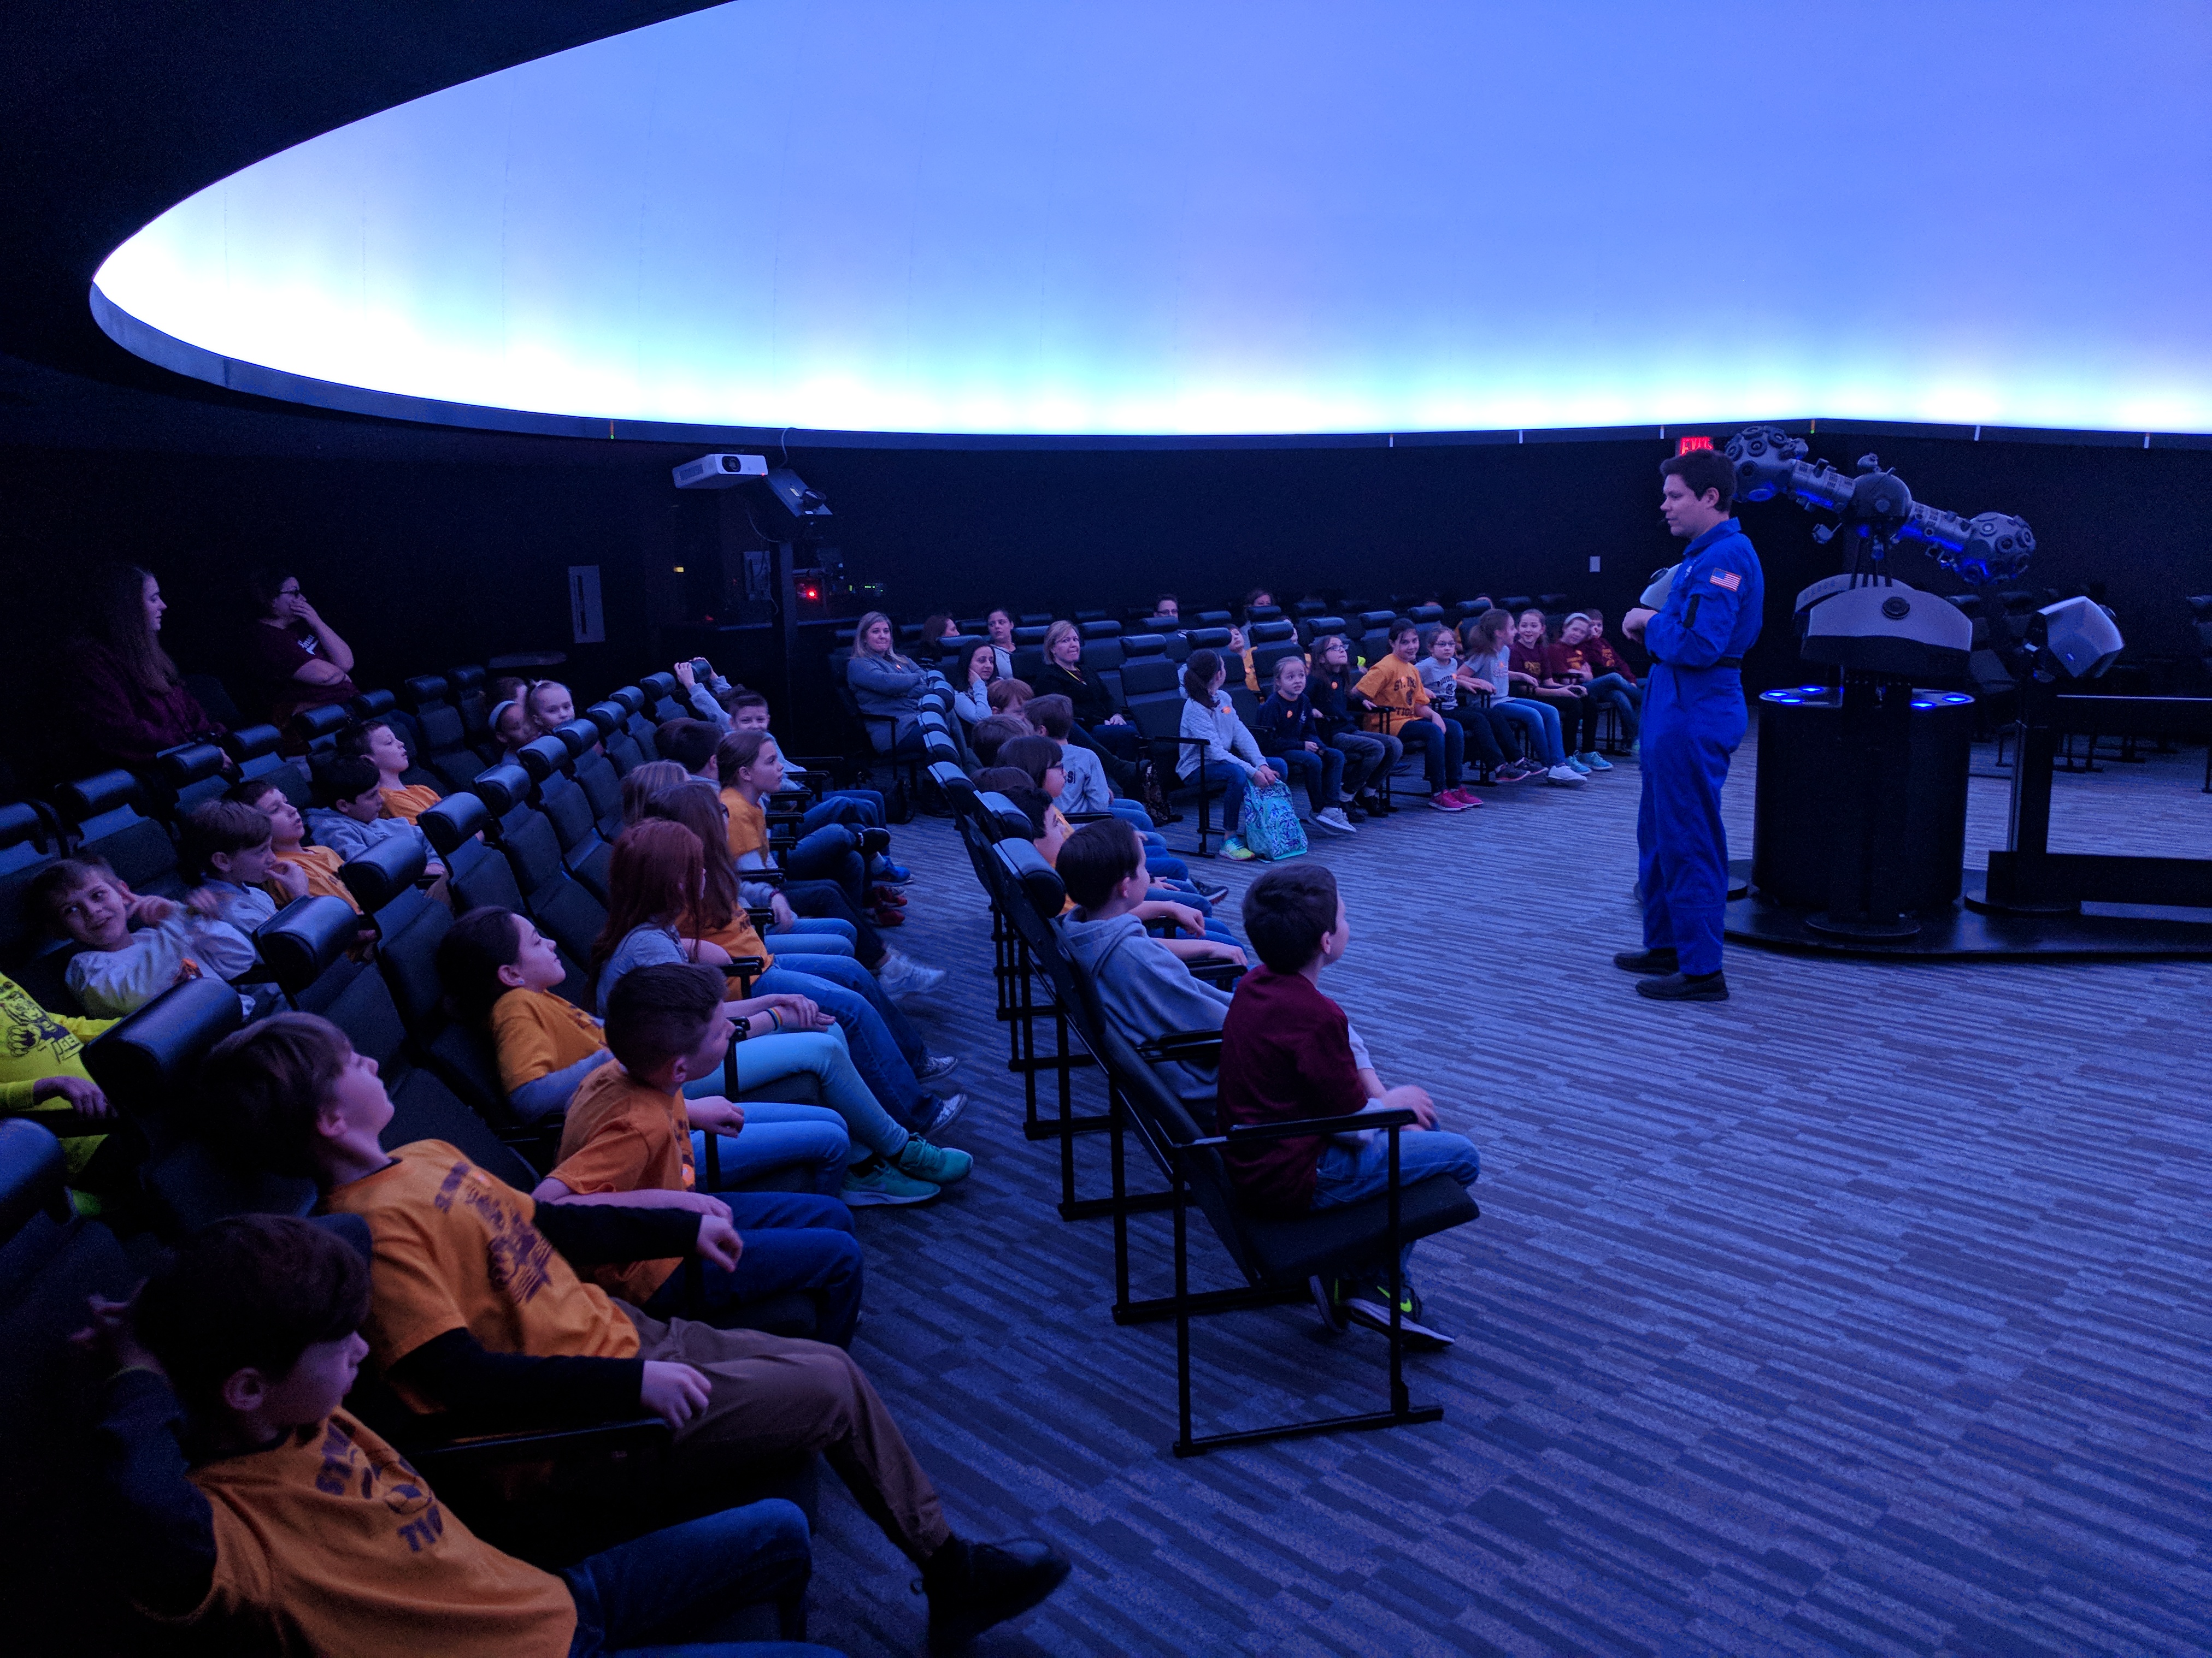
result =
[[[1690,542],[1666,608],[1644,623],[1644,798],[1637,880],[1644,948],[1672,948],[1683,973],[1721,970],[1728,829],[1721,785],[1743,741],[1743,652],[1759,639],[1765,577],[1736,520]]]

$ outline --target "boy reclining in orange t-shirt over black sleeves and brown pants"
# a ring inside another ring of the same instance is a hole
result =
[[[823,1342],[661,1322],[575,1276],[571,1260],[699,1253],[737,1267],[737,1231],[717,1198],[666,1192],[648,1209],[637,1207],[646,1194],[633,1192],[619,1207],[540,1205],[442,1141],[385,1152],[392,1096],[374,1061],[312,1012],[279,1012],[226,1037],[199,1081],[199,1125],[221,1152],[265,1172],[305,1172],[327,1211],[367,1222],[361,1333],[416,1410],[456,1428],[624,1421],[650,1410],[675,1430],[675,1448],[644,1477],[672,1497],[776,1457],[821,1452],[922,1567],[940,1645],[1037,1605],[1068,1574],[1066,1556],[1035,1541],[953,1536],[929,1475],[852,1355]]]

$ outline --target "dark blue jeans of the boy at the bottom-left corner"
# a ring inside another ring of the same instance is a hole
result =
[[[745,1607],[805,1594],[812,1572],[807,1517],[781,1499],[650,1532],[562,1567],[575,1596],[568,1658],[644,1658],[670,1651],[659,1645],[666,1638],[692,1636],[712,1643],[684,1647],[695,1658],[834,1658],[827,1647],[799,1640],[737,1645],[714,1638],[719,1625]]]

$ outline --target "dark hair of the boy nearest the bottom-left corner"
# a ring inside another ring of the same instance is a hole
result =
[[[146,1278],[131,1329],[186,1406],[210,1415],[246,1368],[292,1375],[316,1342],[369,1315],[369,1262],[312,1220],[243,1214],[188,1234]]]

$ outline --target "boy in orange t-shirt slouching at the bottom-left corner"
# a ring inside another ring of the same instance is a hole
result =
[[[115,1570],[142,1616],[217,1649],[562,1658],[584,1614],[626,1649],[805,1592],[807,1523],[783,1501],[646,1539],[664,1567],[650,1598],[613,1594],[619,1554],[555,1574],[478,1539],[345,1413],[372,1269],[310,1220],[219,1220],[131,1302],[91,1307],[77,1340],[108,1371],[102,1494],[135,1539]]]

